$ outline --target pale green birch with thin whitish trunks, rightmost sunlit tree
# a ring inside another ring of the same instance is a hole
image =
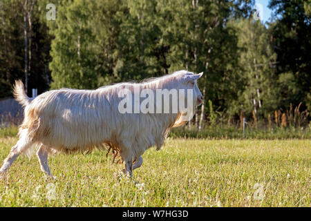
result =
[[[270,42],[270,33],[261,21],[241,19],[232,21],[237,29],[238,57],[236,75],[241,79],[238,87],[238,99],[232,100],[229,113],[246,115],[264,115],[276,110],[279,104],[276,88],[276,54]]]

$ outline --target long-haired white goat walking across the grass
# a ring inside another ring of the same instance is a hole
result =
[[[120,91],[191,89],[195,107],[202,103],[196,83],[201,75],[180,70],[142,83],[121,83],[97,90],[50,90],[35,99],[27,97],[23,83],[16,81],[14,94],[25,106],[24,119],[19,126],[19,141],[4,160],[0,177],[19,154],[29,155],[34,147],[37,147],[41,170],[48,176],[51,176],[49,153],[90,152],[95,147],[108,148],[108,153],[112,149],[115,157],[120,156],[125,162],[124,171],[131,175],[133,169],[141,166],[141,155],[147,148],[156,146],[160,150],[170,129],[187,121],[182,119],[185,113],[180,109],[177,113],[120,113],[118,108],[123,99],[119,97]],[[185,99],[189,99],[187,91],[185,95]],[[191,118],[193,113],[191,111]]]

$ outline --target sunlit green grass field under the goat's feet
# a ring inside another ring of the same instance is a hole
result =
[[[0,160],[16,137],[0,138]],[[0,206],[310,206],[311,140],[169,139],[133,179],[106,152],[19,157],[0,181]]]

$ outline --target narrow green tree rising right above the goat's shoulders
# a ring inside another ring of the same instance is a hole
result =
[[[142,80],[168,73],[166,53],[161,42],[158,1],[127,1],[121,32],[117,38],[117,64],[114,73],[121,79]]]

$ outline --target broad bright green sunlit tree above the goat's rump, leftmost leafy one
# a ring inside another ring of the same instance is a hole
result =
[[[68,1],[49,23],[51,88],[97,88],[120,81],[115,74],[123,1]],[[126,10],[124,10],[126,12]]]

